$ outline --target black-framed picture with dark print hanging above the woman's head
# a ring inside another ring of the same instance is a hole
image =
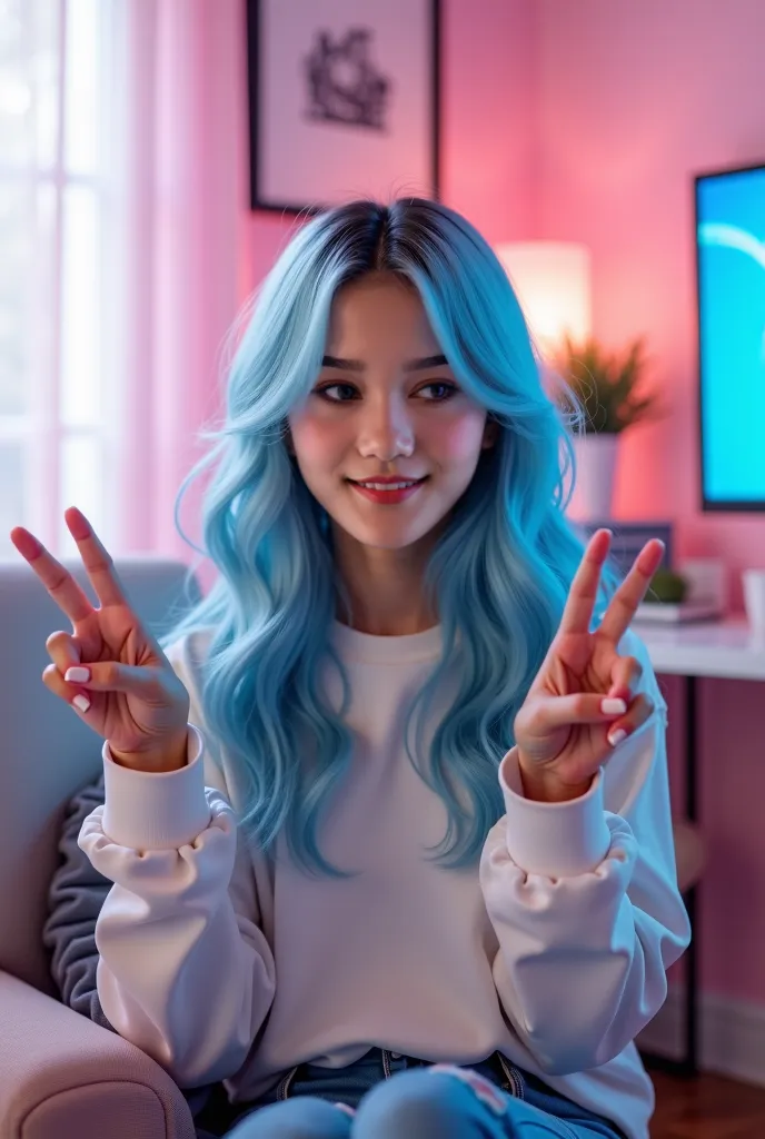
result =
[[[246,23],[250,210],[438,199],[441,0],[246,0]]]

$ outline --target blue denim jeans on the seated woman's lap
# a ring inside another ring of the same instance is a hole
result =
[[[372,1048],[344,1068],[302,1064],[240,1105],[228,1139],[626,1139],[609,1120],[500,1060],[458,1067]],[[212,1133],[197,1130],[198,1139]]]

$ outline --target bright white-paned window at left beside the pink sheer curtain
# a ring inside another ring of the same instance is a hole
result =
[[[28,526],[108,541],[108,0],[0,0],[0,557]]]

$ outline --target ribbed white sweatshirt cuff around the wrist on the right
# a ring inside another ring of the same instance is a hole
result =
[[[611,845],[603,810],[602,768],[590,789],[565,803],[541,803],[524,796],[518,749],[500,764],[510,858],[527,874],[570,878],[594,870]]]

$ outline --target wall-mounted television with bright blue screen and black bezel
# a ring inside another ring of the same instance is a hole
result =
[[[694,178],[704,510],[765,510],[765,163]]]

